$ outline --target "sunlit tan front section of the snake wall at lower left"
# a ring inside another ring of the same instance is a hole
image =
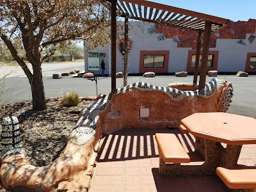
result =
[[[47,166],[31,165],[26,160],[26,154],[3,157],[0,176],[4,188],[11,191],[56,191],[56,188],[74,189],[75,186],[75,189],[84,188],[86,191],[90,184],[100,136],[95,134],[85,143],[75,143],[72,141],[75,139],[74,132],[76,131],[72,131],[68,138],[64,154]],[[83,128],[81,132],[84,132]],[[70,182],[72,184],[68,186]]]

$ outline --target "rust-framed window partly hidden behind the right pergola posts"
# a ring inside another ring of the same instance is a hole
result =
[[[208,53],[208,62],[207,62],[207,70],[217,70],[218,67],[218,58],[219,51],[209,51]],[[188,63],[187,63],[187,71],[194,72],[195,71],[195,61],[196,61],[196,50],[188,51]],[[202,51],[199,57],[199,66],[198,70],[200,71],[202,61]]]

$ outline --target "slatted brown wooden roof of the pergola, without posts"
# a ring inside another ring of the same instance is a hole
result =
[[[206,21],[212,22],[211,31],[216,31],[229,22],[228,19],[221,17],[145,0],[117,0],[116,14],[118,17],[202,31],[205,29]]]

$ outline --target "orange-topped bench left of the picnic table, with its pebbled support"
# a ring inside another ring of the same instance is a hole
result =
[[[156,133],[159,148],[159,173],[165,175],[168,165],[189,163],[190,157],[175,134]]]

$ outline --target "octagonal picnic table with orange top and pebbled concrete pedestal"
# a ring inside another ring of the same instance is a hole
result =
[[[236,166],[242,146],[256,144],[255,118],[222,112],[194,113],[180,122],[195,136],[195,153],[205,160],[201,166],[184,169],[184,175],[214,175],[218,166]]]

